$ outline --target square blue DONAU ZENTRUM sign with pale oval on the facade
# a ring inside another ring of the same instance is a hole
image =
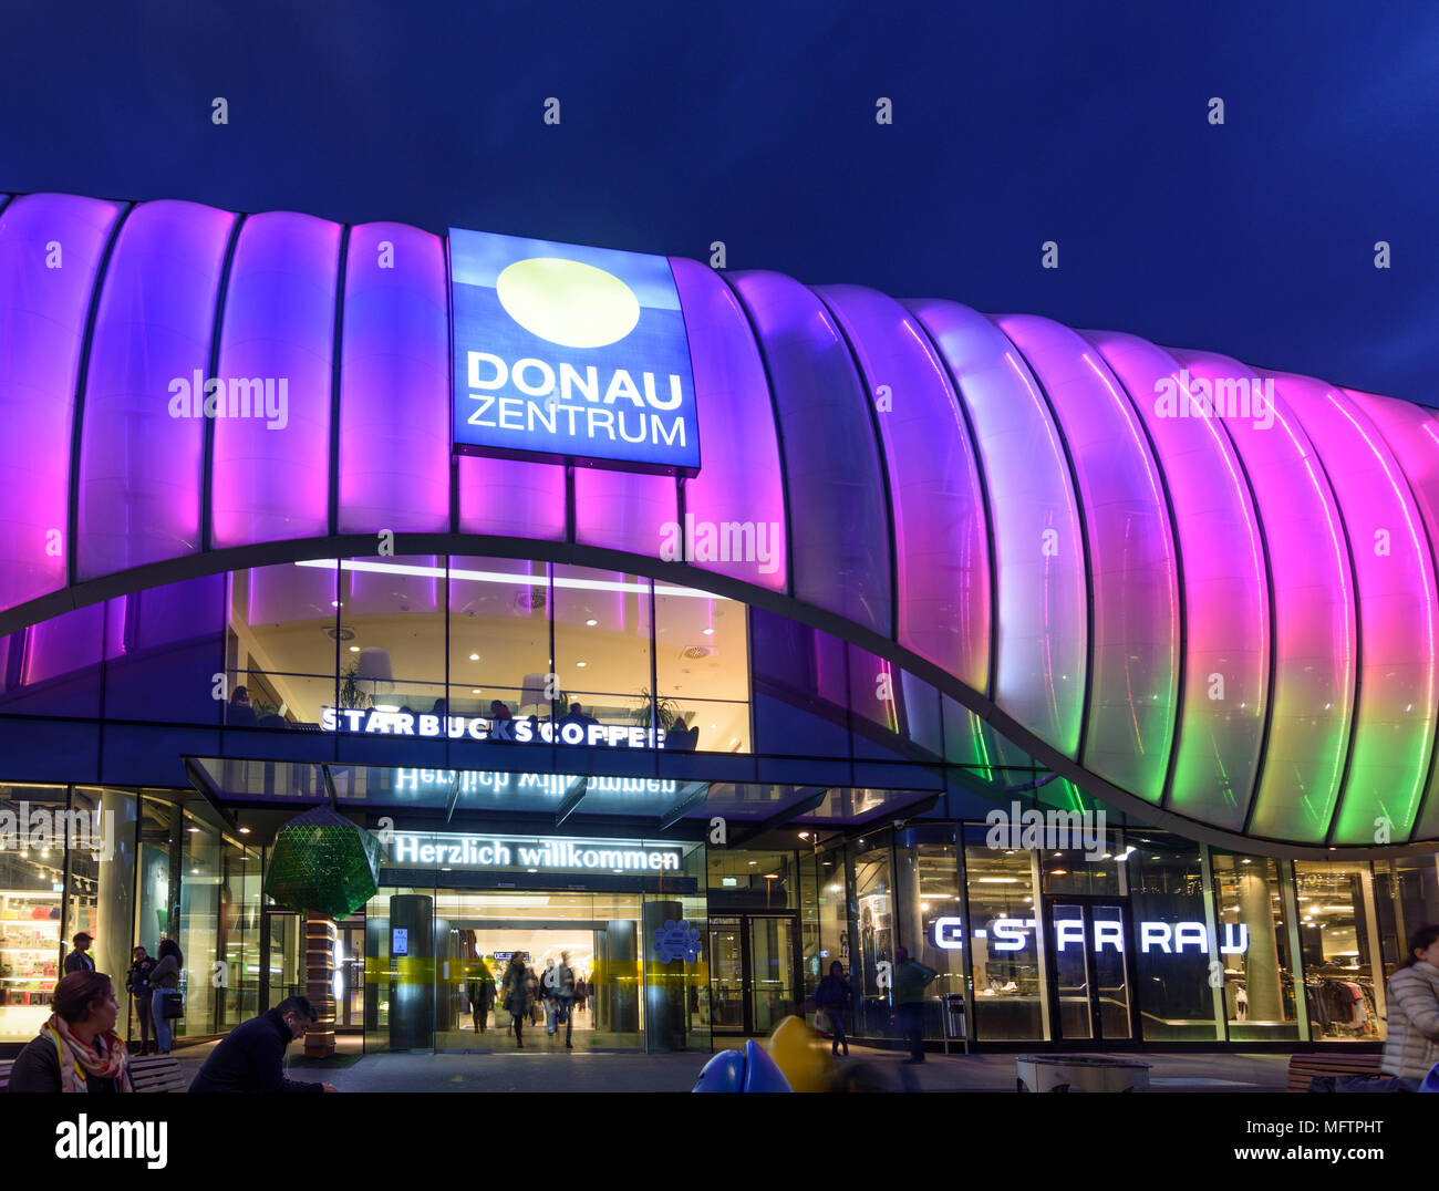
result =
[[[669,262],[450,229],[455,450],[699,470]]]

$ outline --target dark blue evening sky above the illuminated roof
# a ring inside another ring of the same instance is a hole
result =
[[[951,7],[7,3],[0,190],[724,240],[1439,404],[1439,6]]]

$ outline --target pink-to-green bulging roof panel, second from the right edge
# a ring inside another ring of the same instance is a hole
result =
[[[1358,580],[1357,722],[1331,840],[1373,844],[1379,818],[1403,839],[1429,777],[1435,731],[1429,544],[1399,463],[1354,403],[1309,377],[1274,374],[1274,384],[1334,486]]]

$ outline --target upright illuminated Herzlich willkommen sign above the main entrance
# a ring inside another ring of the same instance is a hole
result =
[[[443,864],[450,869],[535,869],[537,872],[678,873],[676,847],[622,840],[515,840],[496,836],[416,836],[396,831],[386,853],[390,864]]]

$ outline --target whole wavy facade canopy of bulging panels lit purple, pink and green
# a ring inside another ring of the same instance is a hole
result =
[[[882,653],[1151,821],[1439,839],[1433,411],[1032,315],[669,263],[702,467],[567,476],[452,456],[442,237],[10,200],[0,631],[373,552],[381,531],[622,562]],[[285,378],[283,424],[171,416],[196,374]],[[774,525],[783,549],[662,561],[686,518]]]

